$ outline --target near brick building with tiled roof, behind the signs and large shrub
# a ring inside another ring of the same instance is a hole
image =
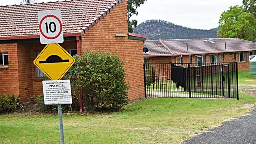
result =
[[[20,95],[21,102],[33,102],[30,95],[42,94],[44,74],[33,60],[45,45],[39,40],[37,11],[60,9],[64,42],[71,55],[91,50],[118,52],[124,62],[128,97],[144,96],[144,35],[128,33],[126,0],[71,0],[0,7],[0,93]],[[121,36],[121,37],[120,37]],[[139,88],[140,87],[140,88]],[[140,90],[140,91],[139,91]]]

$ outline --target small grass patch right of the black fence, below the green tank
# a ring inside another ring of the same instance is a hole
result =
[[[256,77],[250,75],[249,70],[238,71],[239,85],[256,85]]]

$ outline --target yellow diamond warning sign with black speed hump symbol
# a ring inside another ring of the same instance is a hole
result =
[[[42,52],[35,58],[37,66],[51,80],[61,79],[75,59],[59,44],[47,44]]]

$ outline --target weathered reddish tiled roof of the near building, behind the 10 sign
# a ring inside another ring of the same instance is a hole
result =
[[[1,37],[39,35],[37,12],[60,9],[63,33],[85,33],[122,0],[69,0],[0,6]]]

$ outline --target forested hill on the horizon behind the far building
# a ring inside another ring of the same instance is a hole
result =
[[[199,30],[178,26],[164,20],[147,20],[134,28],[134,33],[147,35],[148,40],[155,39],[204,39],[217,38],[219,28]]]

